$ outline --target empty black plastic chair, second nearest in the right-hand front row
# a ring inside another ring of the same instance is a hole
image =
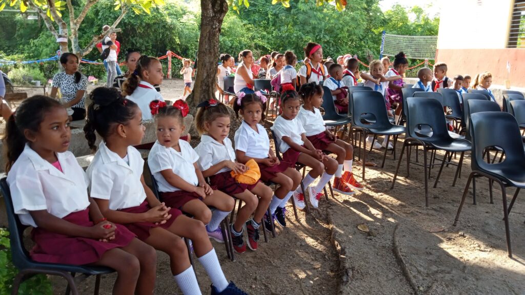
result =
[[[450,134],[448,133],[448,130],[446,127],[445,114],[443,113],[443,106],[436,99],[409,97],[407,99],[407,104],[408,104],[408,117],[407,117],[407,128],[408,129],[407,131],[408,131],[409,137],[405,138],[405,142],[403,143],[403,148],[401,149],[401,155],[399,158],[399,162],[397,163],[397,168],[394,174],[394,179],[392,181],[391,188],[394,188],[395,180],[397,178],[397,173],[399,172],[399,167],[401,165],[401,161],[403,160],[403,152],[405,150],[405,147],[412,146],[412,145],[423,146],[423,155],[424,155],[423,156],[423,160],[424,160],[423,168],[425,171],[425,206],[428,207],[428,177],[430,174],[430,168],[434,164],[433,164],[433,161],[430,161],[430,163],[427,165],[427,151],[428,150],[445,151],[445,155],[443,156],[443,161],[439,168],[439,172],[437,174],[436,181],[434,183],[434,187],[437,186],[437,182],[439,181],[439,176],[441,175],[441,172],[443,170],[445,160],[449,158],[448,157],[449,154],[455,153],[455,152],[461,153],[461,156],[459,157],[459,163],[457,164],[456,175],[454,176],[454,182],[452,184],[452,186],[455,186],[461,164],[463,164],[464,154],[466,151],[470,150],[471,144],[469,141],[465,139],[455,139],[455,138],[450,137]],[[419,125],[427,125],[430,129],[432,129],[431,136],[426,137],[426,136],[422,136],[421,134],[419,134],[417,132]],[[409,163],[410,163],[410,155],[408,153],[407,155],[407,173],[409,172]],[[448,162],[447,165],[448,164],[453,164],[453,163]],[[428,171],[427,171],[427,167],[428,167]]]

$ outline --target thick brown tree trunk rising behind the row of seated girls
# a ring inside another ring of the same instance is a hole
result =
[[[186,99],[191,108],[215,98],[220,27],[228,12],[226,0],[201,0],[201,36],[197,53],[197,76],[193,93]]]

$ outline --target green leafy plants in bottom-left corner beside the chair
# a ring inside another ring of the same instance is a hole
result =
[[[0,228],[0,265],[0,295],[7,295],[11,293],[18,270],[11,259],[9,232],[4,228]],[[18,294],[47,295],[53,294],[53,289],[45,275],[37,275],[24,281]]]

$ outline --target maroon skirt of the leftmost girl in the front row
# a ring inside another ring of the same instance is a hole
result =
[[[89,208],[71,213],[62,219],[85,227],[93,226],[89,219]],[[71,237],[36,227],[31,231],[31,239],[36,243],[30,252],[31,258],[39,262],[56,264],[84,265],[92,264],[113,248],[125,247],[135,237],[131,231],[120,224],[115,224],[115,238],[103,242],[96,239]]]

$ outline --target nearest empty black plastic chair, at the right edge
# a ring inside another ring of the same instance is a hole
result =
[[[503,220],[505,221],[505,234],[507,236],[507,250],[512,257],[510,244],[509,213],[521,188],[525,188],[525,151],[521,139],[520,130],[516,120],[506,112],[480,112],[470,116],[472,134],[472,159],[470,173],[463,197],[459,203],[454,226],[457,225],[461,208],[465,204],[470,181],[474,177],[485,176],[491,181],[497,182],[501,187],[503,201]],[[495,136],[505,134],[505,136]],[[501,163],[489,164],[484,161],[484,152],[491,146],[499,146],[504,152],[506,159]],[[516,192],[507,206],[506,187],[516,187]]]

